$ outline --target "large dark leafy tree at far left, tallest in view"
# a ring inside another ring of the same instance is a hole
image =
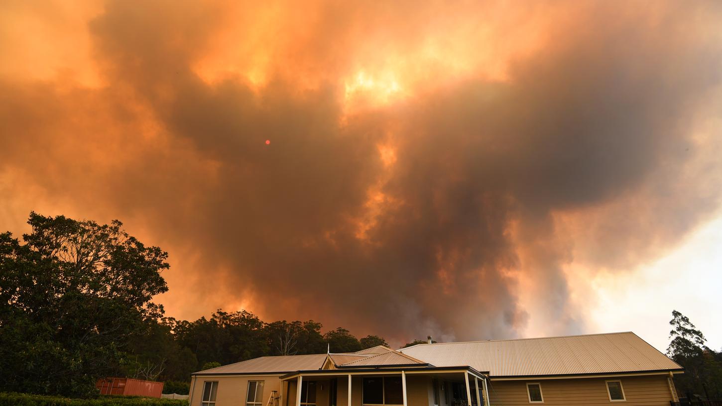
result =
[[[121,229],[30,213],[0,234],[0,390],[89,396],[162,307],[168,254]]]

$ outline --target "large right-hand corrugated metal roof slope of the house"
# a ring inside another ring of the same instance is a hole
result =
[[[402,353],[435,366],[471,366],[491,376],[605,374],[681,369],[633,332],[419,344]]]

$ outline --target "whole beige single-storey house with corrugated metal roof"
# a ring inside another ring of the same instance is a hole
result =
[[[429,340],[431,341],[431,340]],[[272,356],[192,376],[190,406],[669,405],[682,367],[633,332]]]

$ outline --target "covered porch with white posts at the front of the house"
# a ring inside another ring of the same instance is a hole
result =
[[[281,377],[281,406],[490,406],[470,367],[328,369]]]

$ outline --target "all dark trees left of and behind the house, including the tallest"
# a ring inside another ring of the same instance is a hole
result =
[[[388,345],[313,320],[266,323],[218,310],[193,322],[163,317],[152,297],[168,253],[119,221],[30,213],[29,234],[0,234],[0,391],[92,397],[95,381],[129,376],[187,391],[193,371],[256,358]],[[167,389],[168,389],[167,388]]]

